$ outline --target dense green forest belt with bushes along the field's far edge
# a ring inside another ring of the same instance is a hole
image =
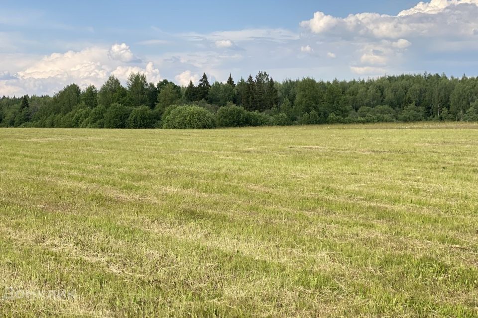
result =
[[[187,87],[111,76],[100,89],[70,84],[54,96],[1,97],[1,127],[214,128],[392,121],[478,121],[478,79],[400,75],[276,82],[265,72]]]

